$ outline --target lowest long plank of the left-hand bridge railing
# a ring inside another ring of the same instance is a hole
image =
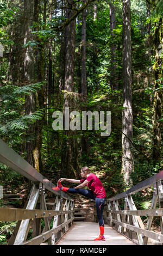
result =
[[[43,241],[46,241],[49,237],[51,237],[54,233],[56,234],[59,230],[65,227],[66,224],[70,223],[72,219],[68,220],[65,223],[60,224],[58,227],[53,228],[51,230],[46,231],[45,233],[36,236],[29,241],[21,243],[21,245],[40,245]]]

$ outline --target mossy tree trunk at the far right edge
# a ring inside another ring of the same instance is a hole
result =
[[[162,17],[160,17],[158,24],[154,30],[153,35],[154,51],[155,51],[155,63],[153,66],[155,74],[154,83],[154,101],[153,101],[153,160],[160,160],[161,157],[161,119],[162,114],[162,89],[160,88],[161,78],[162,78],[162,68],[161,68],[161,43],[162,43]],[[160,45],[160,47],[159,47]]]

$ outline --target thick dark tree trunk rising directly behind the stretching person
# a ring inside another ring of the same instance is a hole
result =
[[[73,10],[67,10],[67,17],[70,19],[74,14]],[[76,20],[65,29],[65,87],[69,92],[64,95],[64,108],[69,107],[71,112],[73,107],[73,96],[70,92],[74,92],[74,59],[75,59],[75,42],[76,42]],[[65,114],[65,113],[64,113]],[[64,115],[65,117],[65,115]],[[70,129],[70,128],[69,128]],[[78,144],[77,132],[72,130],[64,131],[61,152],[61,176],[74,177],[79,169],[78,163]]]

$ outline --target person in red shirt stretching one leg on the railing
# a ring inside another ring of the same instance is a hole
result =
[[[105,237],[104,237],[103,209],[104,209],[104,203],[106,198],[105,189],[102,185],[102,182],[98,179],[98,177],[95,174],[90,173],[90,169],[88,167],[82,167],[80,174],[82,178],[85,178],[85,179],[74,180],[74,179],[61,178],[58,180],[58,187],[53,188],[53,190],[62,190],[69,193],[78,193],[78,194],[82,194],[87,198],[95,200],[100,235],[96,239],[94,239],[94,241],[98,241],[98,240],[104,241]],[[64,180],[72,183],[79,183],[80,185],[74,188],[63,187],[60,182]],[[85,185],[89,187],[90,190],[83,189]]]

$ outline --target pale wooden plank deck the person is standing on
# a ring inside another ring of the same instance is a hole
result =
[[[99,226],[95,222],[74,222],[57,245],[135,245],[122,234],[105,224],[105,241],[93,241],[99,235]]]

